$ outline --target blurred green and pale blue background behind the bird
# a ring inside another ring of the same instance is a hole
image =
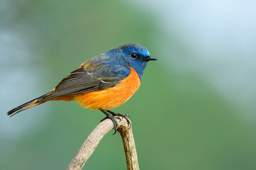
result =
[[[256,169],[255,1],[17,1],[0,6],[0,169],[65,169],[104,115],[74,101],[6,112],[127,43],[152,57],[132,120],[141,169]],[[126,169],[108,133],[84,169]]]

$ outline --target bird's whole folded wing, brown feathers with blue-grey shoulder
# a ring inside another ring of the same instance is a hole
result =
[[[85,67],[85,64],[87,65]],[[60,83],[50,91],[49,94],[42,96],[40,101],[47,101],[53,98],[85,94],[92,91],[100,91],[119,84],[122,79],[129,75],[129,69],[125,70],[122,66],[113,67],[110,64],[99,65],[84,63],[79,69],[71,72]],[[120,74],[121,73],[121,74]]]

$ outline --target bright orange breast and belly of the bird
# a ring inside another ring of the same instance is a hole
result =
[[[131,69],[129,76],[116,86],[102,91],[80,94],[74,97],[75,101],[85,108],[107,111],[122,105],[134,95],[141,84],[137,72],[132,67],[129,69]]]

